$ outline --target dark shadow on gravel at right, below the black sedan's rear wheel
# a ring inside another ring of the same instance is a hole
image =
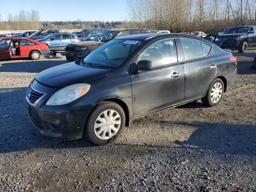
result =
[[[256,155],[256,125],[219,122],[160,121],[165,126],[187,126],[196,130],[188,140],[176,141],[186,147],[197,147],[220,154]]]

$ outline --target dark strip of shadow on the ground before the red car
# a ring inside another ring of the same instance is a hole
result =
[[[48,68],[66,63],[65,60],[44,60],[27,62],[2,62],[0,72],[29,72],[39,73]]]

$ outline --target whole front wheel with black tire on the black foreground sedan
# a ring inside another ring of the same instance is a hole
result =
[[[111,114],[115,119],[108,122],[108,118],[105,116]],[[104,120],[106,121],[104,122]],[[113,120],[116,124],[113,124]],[[106,145],[113,142],[121,134],[124,124],[125,114],[122,107],[114,102],[104,101],[90,112],[84,125],[84,134],[90,142],[96,145]],[[96,135],[97,132],[98,136]]]

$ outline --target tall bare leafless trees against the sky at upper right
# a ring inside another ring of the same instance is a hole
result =
[[[217,33],[256,25],[256,0],[127,0],[133,27]]]

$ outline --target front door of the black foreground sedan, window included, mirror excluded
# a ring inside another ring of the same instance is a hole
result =
[[[159,40],[149,45],[136,63],[140,60],[150,60],[154,68],[131,74],[134,116],[184,100],[184,66],[182,62],[178,62],[174,38]]]

